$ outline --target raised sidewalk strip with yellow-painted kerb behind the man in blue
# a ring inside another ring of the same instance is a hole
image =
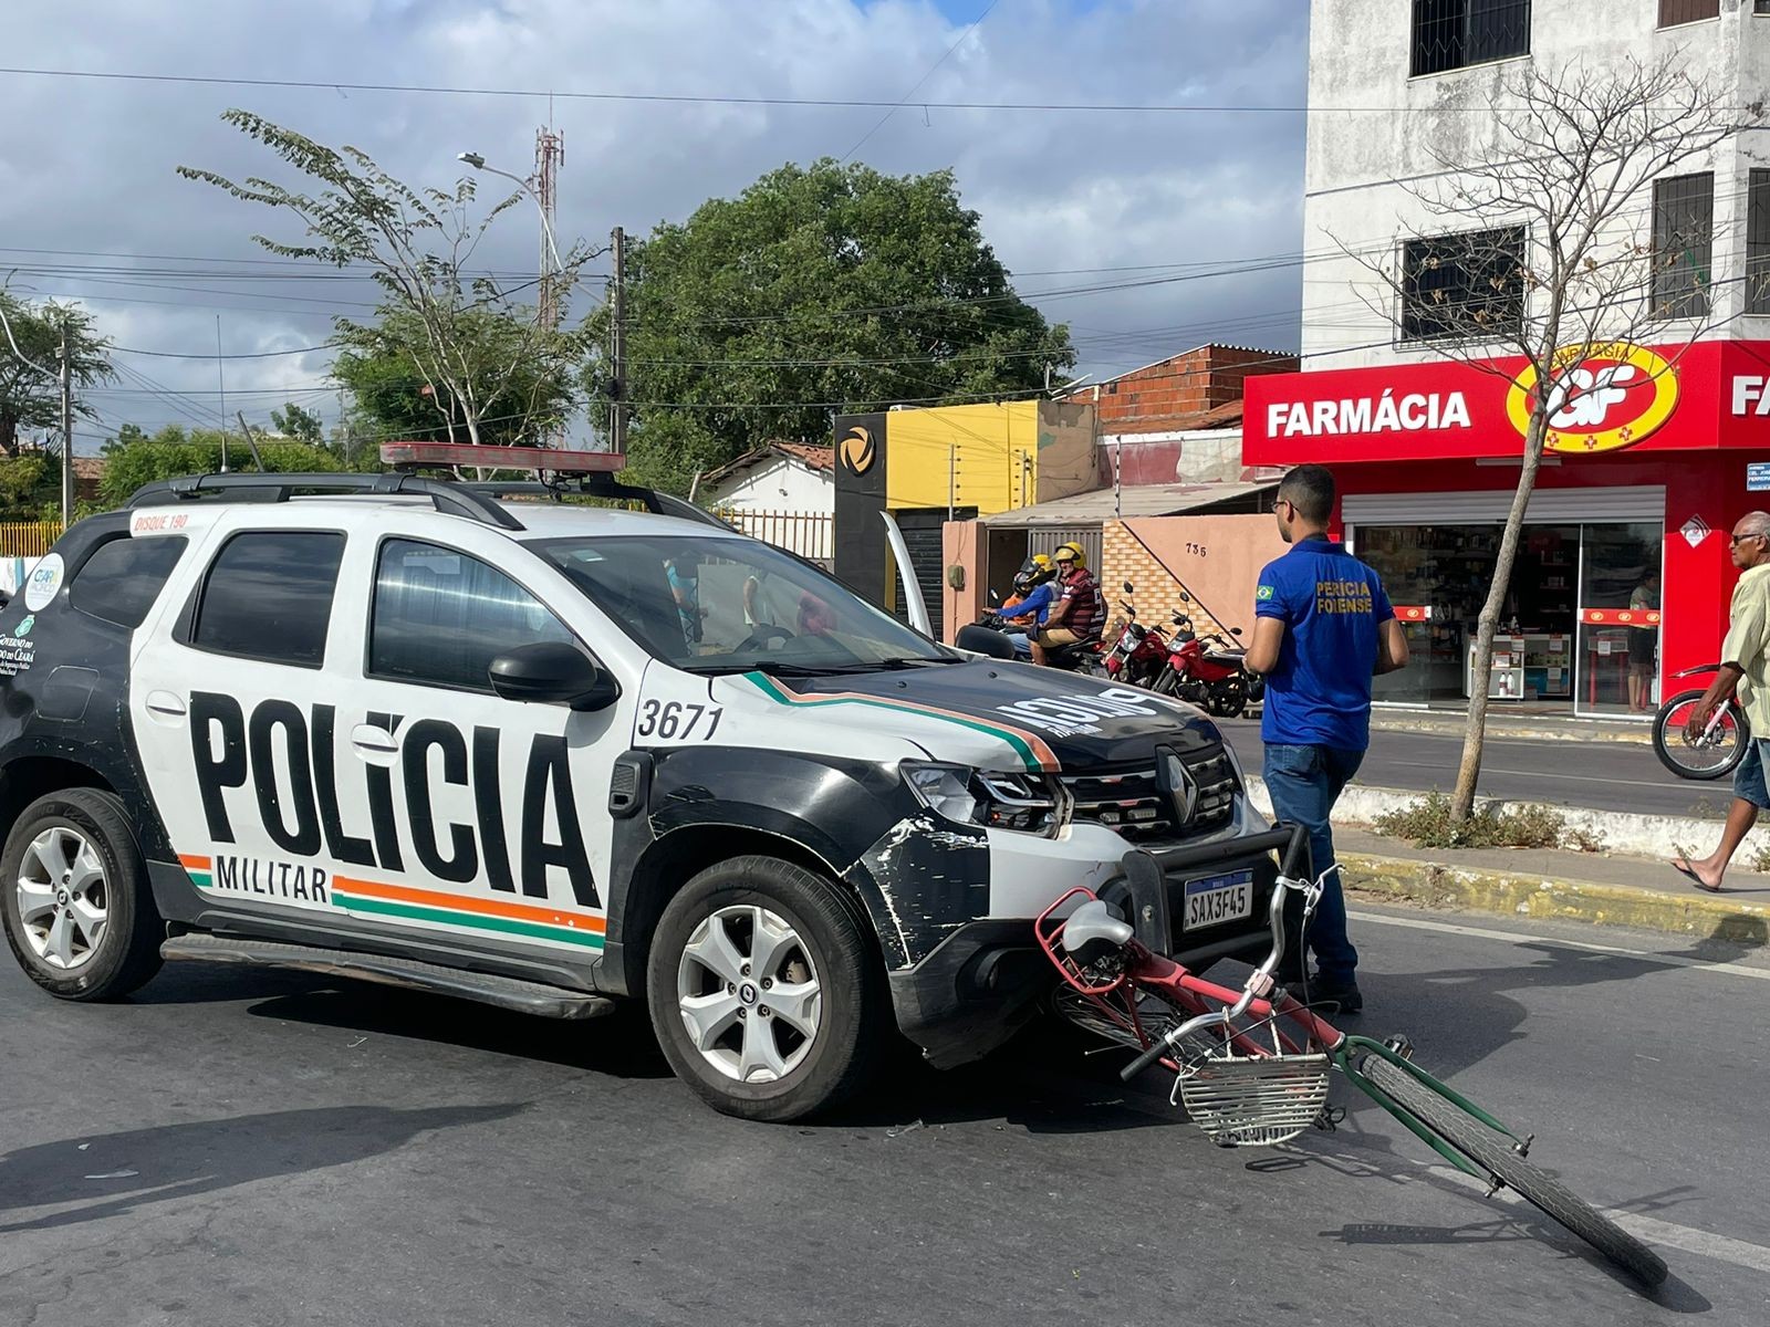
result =
[[[1770,876],[1743,867],[1703,894],[1664,862],[1607,853],[1412,848],[1354,826],[1335,826],[1335,851],[1354,899],[1770,943]]]

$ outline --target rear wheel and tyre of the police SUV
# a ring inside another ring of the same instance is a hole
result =
[[[159,971],[165,922],[112,793],[32,802],[0,851],[0,894],[12,955],[60,1000],[117,1000]]]

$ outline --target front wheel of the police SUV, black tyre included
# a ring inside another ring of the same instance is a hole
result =
[[[889,1037],[860,906],[770,856],[722,862],[671,899],[646,994],[676,1076],[745,1120],[835,1106],[867,1079]]]

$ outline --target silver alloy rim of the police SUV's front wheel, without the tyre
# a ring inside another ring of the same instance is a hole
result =
[[[689,1042],[720,1076],[779,1083],[823,1026],[811,947],[779,913],[720,908],[689,936],[676,964],[676,1009]]]

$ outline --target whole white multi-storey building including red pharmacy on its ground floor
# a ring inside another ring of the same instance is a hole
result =
[[[1766,11],[1765,0],[1312,4],[1303,372],[1248,380],[1244,460],[1333,469],[1338,527],[1384,575],[1414,646],[1414,667],[1379,679],[1381,699],[1466,702],[1538,391],[1503,345],[1451,347],[1432,315],[1430,299],[1483,288],[1487,274],[1457,257],[1460,235],[1542,241],[1524,212],[1451,211],[1455,186],[1506,142],[1501,117],[1517,108],[1520,76],[1614,87],[1671,60],[1724,113],[1770,122]],[[1552,172],[1554,152],[1542,159]],[[1719,648],[1726,531],[1770,506],[1747,478],[1751,462],[1770,460],[1770,405],[1758,405],[1770,395],[1770,129],[1726,133],[1653,179],[1604,232],[1598,257],[1620,253],[1651,255],[1655,303],[1689,301],[1676,308],[1697,317],[1662,322],[1650,345],[1575,354],[1552,384],[1563,403],[1496,644],[1494,695],[1519,706],[1650,711],[1662,678]]]

